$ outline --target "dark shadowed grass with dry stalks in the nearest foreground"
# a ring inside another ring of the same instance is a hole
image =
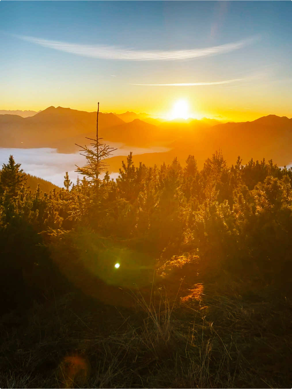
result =
[[[3,315],[0,387],[290,387],[291,301],[199,285],[129,292],[134,308],[75,291]]]

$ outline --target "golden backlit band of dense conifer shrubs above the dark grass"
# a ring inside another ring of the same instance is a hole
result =
[[[184,168],[176,158],[167,166],[134,166],[130,153],[116,181],[108,172],[101,179],[92,171],[70,190],[66,173],[65,190],[41,193],[37,187],[32,193],[11,156],[0,182],[2,237],[11,242],[2,245],[2,260],[5,252],[18,252],[23,240],[37,252],[35,242],[50,242],[52,231],[69,237],[82,228],[92,244],[99,242],[97,257],[105,238],[152,258],[139,266],[164,266],[172,256],[195,255],[198,273],[225,269],[241,277],[256,275],[263,284],[275,282],[291,266],[292,170],[272,161],[241,162],[238,158],[228,167],[219,151],[202,170],[191,155]],[[15,240],[19,244],[12,244]],[[20,259],[23,250],[12,256],[19,268],[37,261],[34,255]]]

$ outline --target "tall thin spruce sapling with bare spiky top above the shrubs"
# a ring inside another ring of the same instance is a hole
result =
[[[96,139],[87,138],[88,140],[92,140],[92,143],[90,143],[91,147],[87,147],[86,145],[83,147],[76,144],[76,146],[81,148],[80,154],[85,156],[87,164],[83,167],[75,165],[77,167],[75,171],[84,175],[92,187],[99,187],[99,176],[107,166],[105,159],[111,156],[111,152],[117,150],[99,142],[103,138],[98,137],[98,114],[99,102],[97,103]]]

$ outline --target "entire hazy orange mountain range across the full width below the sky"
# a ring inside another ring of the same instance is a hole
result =
[[[143,115],[145,120],[141,120]],[[219,148],[228,164],[235,163],[238,155],[242,163],[251,158],[272,158],[279,166],[292,161],[292,119],[285,116],[269,115],[242,123],[220,123],[204,118],[163,122],[154,119],[156,124],[152,124],[149,119],[147,114],[134,112],[99,112],[99,137],[133,150],[148,148],[149,152],[133,156],[135,164],[140,161],[147,165],[170,163],[175,156],[184,163],[193,154],[198,166],[202,166]],[[77,152],[79,147],[75,143],[90,143],[86,137],[96,137],[96,112],[48,107],[32,117],[0,115],[0,147],[52,147],[59,152]],[[168,147],[168,151],[152,152],[158,146]],[[109,158],[109,170],[117,172],[126,157],[125,154]]]

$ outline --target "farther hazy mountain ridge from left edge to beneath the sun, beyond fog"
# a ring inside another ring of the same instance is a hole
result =
[[[126,114],[137,116],[134,112]],[[146,115],[146,114],[145,114]],[[149,119],[149,118],[148,118]],[[175,120],[154,124],[134,119],[125,123],[112,113],[99,113],[99,137],[133,147],[167,146],[189,131],[210,124],[198,120]],[[75,144],[89,144],[96,136],[96,112],[48,107],[33,117],[0,116],[0,147],[53,147],[60,152],[78,151]]]

